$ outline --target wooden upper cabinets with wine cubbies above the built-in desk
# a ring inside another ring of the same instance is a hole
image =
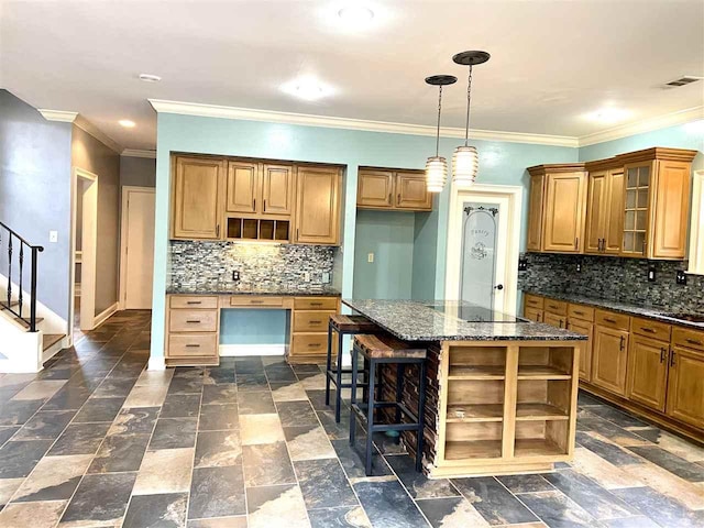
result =
[[[175,155],[172,239],[340,244],[338,166]]]

